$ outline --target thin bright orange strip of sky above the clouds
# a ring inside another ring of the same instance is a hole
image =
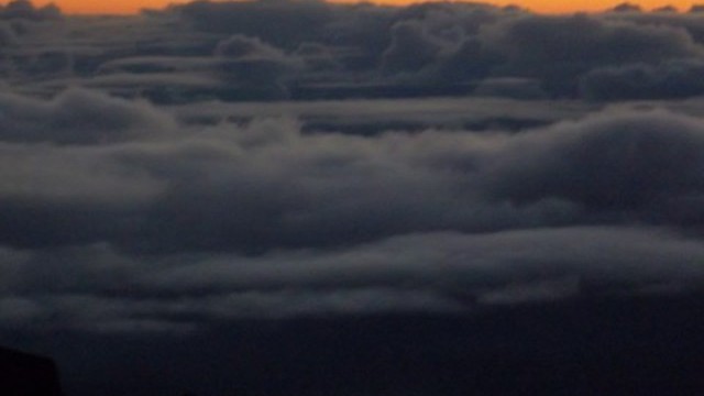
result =
[[[9,0],[0,0],[0,3],[7,3]],[[338,0],[339,1],[339,0]],[[345,1],[345,0],[342,0]],[[396,3],[403,4],[409,2],[408,0],[373,0],[381,3]],[[411,2],[415,0],[410,0]],[[52,1],[47,0],[34,0],[37,6],[46,4]],[[162,8],[173,2],[186,2],[185,0],[111,0],[111,1],[96,1],[96,0],[54,0],[54,3],[59,6],[64,12],[67,13],[131,13],[142,8]],[[613,7],[614,4],[622,2],[622,0],[486,0],[484,2],[494,3],[498,6],[518,4],[529,8],[538,12],[572,12],[572,11],[600,11]],[[702,2],[704,0],[630,0],[632,3],[638,3],[645,9],[652,9],[662,6],[675,6],[680,10],[689,9],[693,3]]]

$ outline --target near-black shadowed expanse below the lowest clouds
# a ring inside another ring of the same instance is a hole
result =
[[[700,294],[600,297],[239,321],[185,339],[56,334],[34,348],[57,358],[68,396],[702,395],[702,314]]]

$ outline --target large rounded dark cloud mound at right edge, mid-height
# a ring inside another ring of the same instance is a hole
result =
[[[516,202],[559,197],[648,216],[704,189],[700,119],[607,112],[518,138],[508,147],[487,175],[494,194]]]

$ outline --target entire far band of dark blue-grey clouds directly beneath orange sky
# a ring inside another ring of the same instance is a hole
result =
[[[590,73],[697,63],[704,41],[690,13],[546,16],[463,3],[195,2],[140,18],[52,21],[7,22],[3,74],[14,88],[56,95],[78,85],[161,103],[461,96],[475,87],[496,95],[505,88],[494,82],[509,80],[576,98]],[[253,53],[222,56],[228,45]],[[501,95],[541,97],[516,89]]]

